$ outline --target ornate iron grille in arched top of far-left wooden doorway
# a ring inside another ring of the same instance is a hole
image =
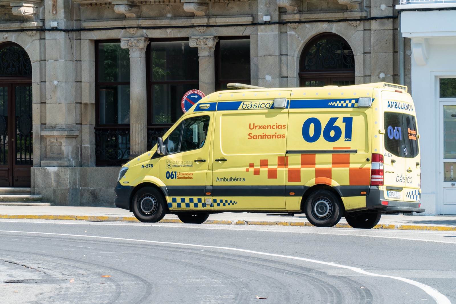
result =
[[[31,76],[31,62],[26,51],[17,46],[0,49],[0,76]]]

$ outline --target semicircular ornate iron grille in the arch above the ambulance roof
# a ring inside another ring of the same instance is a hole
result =
[[[337,38],[323,38],[317,41],[306,54],[304,70],[354,69],[355,60],[350,46]]]

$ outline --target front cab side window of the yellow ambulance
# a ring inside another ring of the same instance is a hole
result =
[[[206,140],[208,125],[209,116],[184,120],[166,139],[166,154],[201,148]]]

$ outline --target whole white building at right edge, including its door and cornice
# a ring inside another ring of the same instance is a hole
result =
[[[401,0],[396,9],[411,39],[421,206],[427,214],[456,214],[456,1]]]

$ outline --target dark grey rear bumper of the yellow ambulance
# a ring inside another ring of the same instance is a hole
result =
[[[388,205],[382,205],[382,201],[387,201]],[[425,209],[420,208],[420,201],[394,201],[385,199],[384,191],[379,190],[378,186],[370,187],[369,195],[366,196],[366,207],[368,209],[381,209],[384,213],[425,211]]]

